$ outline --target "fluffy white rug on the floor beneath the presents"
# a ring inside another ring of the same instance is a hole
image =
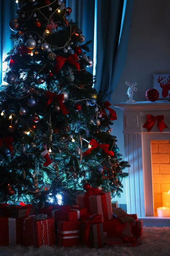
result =
[[[139,247],[0,247],[0,256],[170,256],[170,227],[144,227]]]

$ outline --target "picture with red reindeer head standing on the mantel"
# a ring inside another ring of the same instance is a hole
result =
[[[170,73],[153,74],[153,88],[159,91],[159,99],[170,99]]]

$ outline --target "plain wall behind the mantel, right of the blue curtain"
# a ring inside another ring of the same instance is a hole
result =
[[[153,73],[170,72],[169,14],[170,0],[134,0],[125,69],[113,93],[112,104],[128,99],[125,81],[138,83],[134,99],[144,101],[146,90],[153,85]],[[122,111],[115,110],[118,120],[114,121],[113,133],[124,154]],[[125,189],[118,199],[120,204],[126,204]]]

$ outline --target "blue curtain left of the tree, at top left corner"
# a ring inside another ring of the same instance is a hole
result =
[[[3,71],[6,70],[6,63],[2,63],[7,56],[7,52],[13,47],[10,35],[12,34],[9,28],[9,22],[16,17],[17,4],[15,0],[8,0],[0,2],[0,84],[3,78]]]

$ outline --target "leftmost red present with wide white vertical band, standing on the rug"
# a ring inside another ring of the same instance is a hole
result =
[[[0,246],[23,244],[21,219],[0,217]]]

